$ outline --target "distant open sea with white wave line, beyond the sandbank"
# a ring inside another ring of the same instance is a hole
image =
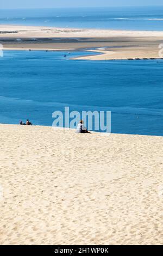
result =
[[[0,24],[162,31],[163,7],[0,9]]]

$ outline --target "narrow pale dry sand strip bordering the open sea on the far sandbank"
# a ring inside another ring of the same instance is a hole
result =
[[[145,36],[163,36],[163,31],[122,31],[109,29],[82,29],[82,28],[57,28],[57,27],[39,27],[39,26],[17,26],[0,25],[0,38],[84,38],[84,37],[145,37]],[[6,33],[17,32],[17,33]]]

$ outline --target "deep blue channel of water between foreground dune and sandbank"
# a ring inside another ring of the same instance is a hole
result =
[[[0,120],[51,126],[52,113],[111,111],[111,130],[163,136],[163,60],[70,60],[85,52],[4,51]],[[90,53],[91,54],[91,53]]]

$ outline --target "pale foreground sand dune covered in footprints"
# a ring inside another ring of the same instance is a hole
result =
[[[1,245],[161,245],[163,137],[0,125]]]

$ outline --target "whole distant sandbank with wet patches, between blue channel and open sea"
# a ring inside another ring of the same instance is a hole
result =
[[[0,44],[4,50],[84,50],[100,53],[75,59],[159,59],[163,31],[0,25]]]

